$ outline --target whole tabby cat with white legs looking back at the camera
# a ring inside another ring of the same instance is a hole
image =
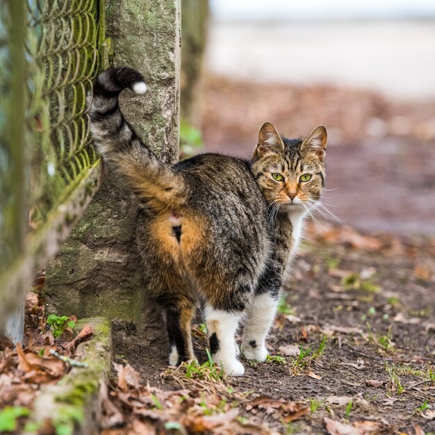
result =
[[[124,120],[117,102],[124,88],[142,93],[146,85],[129,68],[99,75],[91,128],[105,161],[142,203],[137,243],[149,289],[165,311],[170,364],[194,358],[190,322],[199,300],[213,360],[243,375],[234,336],[246,318],[243,355],[266,359],[265,337],[302,219],[325,183],[326,129],[288,140],[265,122],[250,161],[200,154],[170,167]],[[302,174],[311,180],[301,181]]]

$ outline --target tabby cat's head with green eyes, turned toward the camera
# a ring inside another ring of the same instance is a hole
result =
[[[269,204],[304,211],[320,199],[325,186],[327,129],[317,126],[306,138],[281,138],[270,122],[258,132],[252,154],[252,172]]]

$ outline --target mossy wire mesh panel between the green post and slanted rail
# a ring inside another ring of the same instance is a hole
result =
[[[85,99],[99,66],[98,5],[96,0],[27,4],[31,224],[38,225],[96,161]]]

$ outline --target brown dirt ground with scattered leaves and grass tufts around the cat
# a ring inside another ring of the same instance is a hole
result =
[[[272,358],[245,361],[245,376],[227,379],[233,395],[245,397],[232,406],[258,427],[283,434],[435,432],[435,240],[361,236],[349,228],[324,236],[309,227],[268,340]],[[199,329],[195,353],[204,363]],[[301,349],[310,350],[304,358]],[[167,370],[161,340],[142,350],[118,340],[115,353],[151,385],[179,388],[161,377]],[[183,386],[189,388],[188,379]],[[292,422],[284,403],[305,413]],[[351,432],[325,418],[345,422]],[[372,426],[361,429],[362,422]]]

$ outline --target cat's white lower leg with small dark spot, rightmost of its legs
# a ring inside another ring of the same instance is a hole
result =
[[[265,338],[274,321],[277,306],[277,296],[270,293],[255,295],[252,298],[242,340],[242,352],[246,359],[256,361],[267,359],[268,350],[265,346]]]

